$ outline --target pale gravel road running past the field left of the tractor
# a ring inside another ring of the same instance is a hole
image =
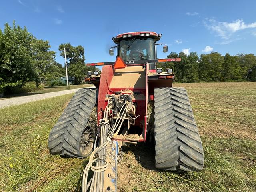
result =
[[[90,88],[90,87],[86,87]],[[80,89],[80,88],[78,88]],[[70,90],[64,90],[64,91],[58,91],[58,92],[51,92],[51,93],[43,93],[43,94],[35,94],[35,95],[29,95],[29,96],[20,96],[10,99],[3,99],[0,100],[0,108],[4,108],[11,105],[20,105],[23,103],[28,103],[32,101],[47,99],[51,97],[56,97],[64,94],[70,94],[76,92],[78,89],[70,89]]]

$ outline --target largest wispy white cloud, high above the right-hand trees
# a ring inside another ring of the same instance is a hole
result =
[[[231,23],[228,22],[218,22],[214,18],[205,18],[204,25],[211,32],[216,33],[220,38],[228,40],[231,38],[232,34],[238,30],[244,30],[246,28],[256,28],[256,22],[245,24],[243,19],[237,19]]]

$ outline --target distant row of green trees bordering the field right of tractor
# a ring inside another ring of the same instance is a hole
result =
[[[218,52],[201,54],[190,52],[189,55],[171,52],[167,58],[181,58],[181,62],[166,62],[158,67],[174,68],[178,82],[209,81],[256,81],[256,56],[254,54],[237,54],[224,56]]]

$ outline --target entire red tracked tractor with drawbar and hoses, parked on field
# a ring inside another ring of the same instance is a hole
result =
[[[48,140],[51,154],[90,155],[83,191],[116,191],[120,147],[146,142],[150,136],[156,168],[202,170],[203,147],[187,92],[172,87],[172,68],[156,68],[160,62],[180,61],[157,59],[161,36],[130,32],[113,37],[116,61],[87,64],[103,66],[101,74],[89,71],[85,78],[96,88],[78,90],[52,128]],[[114,54],[112,48],[110,55]],[[163,51],[167,49],[165,44]],[[148,116],[149,107],[152,118]],[[94,174],[88,182],[89,169]]]

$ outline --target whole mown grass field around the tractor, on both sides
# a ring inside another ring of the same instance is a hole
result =
[[[204,146],[204,170],[154,168],[154,149],[123,148],[120,192],[256,191],[256,82],[185,87]],[[0,109],[0,191],[80,191],[87,160],[52,156],[48,134],[72,94]]]

